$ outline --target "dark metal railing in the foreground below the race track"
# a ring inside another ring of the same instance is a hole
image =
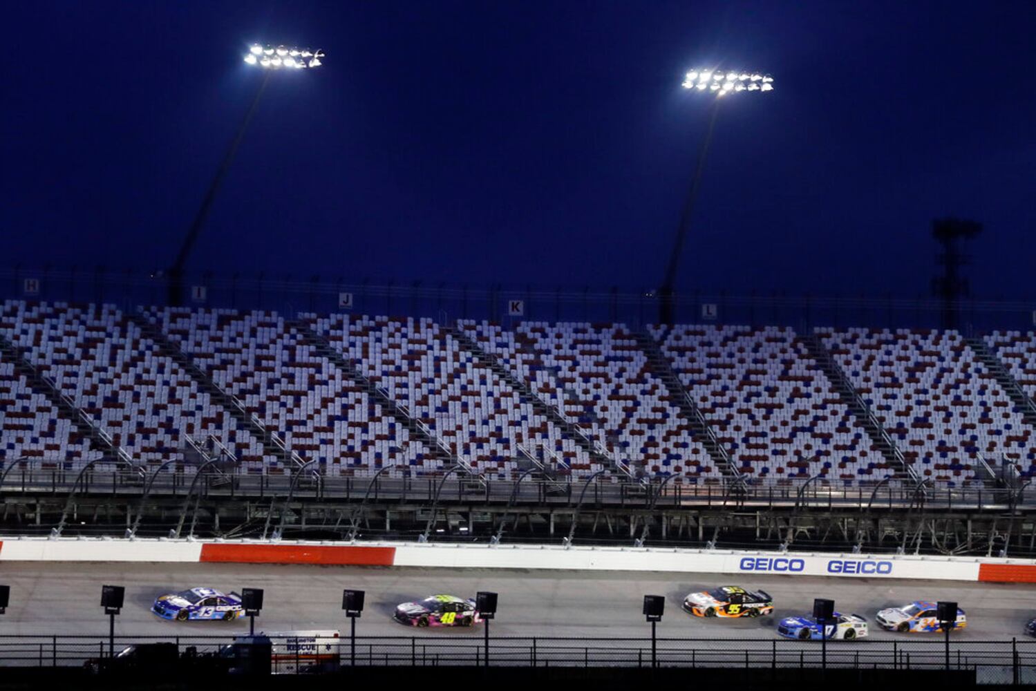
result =
[[[741,667],[746,669],[968,669],[979,683],[1036,682],[1036,641],[861,638],[819,641],[784,638],[562,638],[461,635],[308,637],[270,636],[271,668],[294,672],[320,661],[324,669],[356,666],[510,667]],[[228,657],[234,636],[0,636],[0,666],[81,667],[130,646],[173,643],[181,660]],[[947,659],[948,658],[948,659]],[[947,665],[947,663],[949,663]]]

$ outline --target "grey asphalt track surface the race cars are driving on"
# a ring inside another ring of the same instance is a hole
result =
[[[450,637],[482,636],[481,629],[410,629],[392,621],[400,602],[447,593],[473,597],[478,591],[499,594],[493,636],[575,638],[650,636],[641,613],[642,596],[664,595],[666,613],[659,637],[719,639],[776,637],[781,616],[811,609],[815,597],[835,600],[841,612],[873,622],[876,610],[912,600],[955,600],[967,611],[968,628],[954,640],[1010,640],[1020,637],[1025,623],[1036,616],[1036,585],[832,579],[792,575],[716,576],[630,572],[541,570],[409,569],[377,567],[269,566],[239,564],[0,564],[0,582],[10,585],[11,602],[0,615],[0,636],[107,635],[108,618],[99,606],[100,586],[126,587],[125,606],[117,617],[119,635],[232,635],[248,631],[248,621],[168,622],[149,611],[159,595],[194,586],[224,592],[241,587],[265,591],[256,630],[324,630],[345,633],[342,589],[367,592],[357,635]],[[680,609],[692,591],[715,585],[762,588],[774,599],[775,615],[757,620],[698,618]],[[941,637],[898,634],[870,626],[872,639]],[[852,643],[848,643],[852,644]],[[769,645],[769,643],[768,643]]]

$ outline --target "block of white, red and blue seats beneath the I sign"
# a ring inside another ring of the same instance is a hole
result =
[[[147,317],[304,461],[330,477],[366,476],[428,451],[274,312],[152,308]],[[391,472],[391,471],[390,471]]]

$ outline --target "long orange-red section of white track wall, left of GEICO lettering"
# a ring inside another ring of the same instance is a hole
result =
[[[395,547],[324,547],[320,545],[201,546],[202,562],[227,564],[324,564],[329,566],[391,567]]]

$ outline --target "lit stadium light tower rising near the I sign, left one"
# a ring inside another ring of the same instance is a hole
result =
[[[262,82],[259,84],[256,95],[252,98],[252,105],[249,106],[249,110],[244,113],[244,119],[241,120],[241,124],[237,128],[237,134],[234,135],[234,139],[230,142],[230,148],[227,149],[227,153],[224,154],[223,161],[215,171],[215,177],[212,178],[211,184],[208,185],[208,190],[205,192],[205,197],[202,199],[198,212],[195,213],[194,222],[192,222],[191,228],[188,230],[186,237],[183,238],[183,243],[180,244],[180,251],[177,253],[172,266],[169,267],[170,307],[178,307],[183,303],[183,267],[186,265],[188,259],[191,257],[191,251],[194,249],[195,242],[198,240],[198,235],[201,233],[201,229],[208,219],[208,213],[212,209],[215,194],[220,191],[220,185],[223,184],[223,179],[227,176],[227,171],[230,170],[230,165],[234,162],[234,156],[237,154],[237,148],[244,138],[244,132],[249,127],[249,122],[252,121],[252,116],[255,115],[256,109],[259,108],[259,102],[262,100],[262,94],[266,90],[266,84],[269,82],[270,75],[275,71],[308,71],[321,66],[323,64],[321,58],[323,57],[324,53],[319,49],[311,51],[308,48],[261,46],[259,44],[253,44],[244,54],[243,59],[246,63],[261,68],[265,74],[263,75]]]

